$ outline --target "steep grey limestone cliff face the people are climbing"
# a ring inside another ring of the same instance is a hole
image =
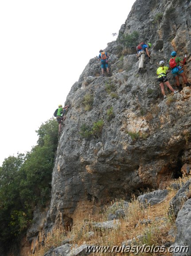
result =
[[[119,56],[117,40],[105,49],[112,76],[100,76],[100,63],[94,57],[72,86],[46,227],[68,227],[76,218],[96,214],[112,199],[128,200],[147,187],[164,188],[181,168],[189,169],[191,89],[184,85],[177,95],[168,91],[163,100],[156,69],[160,60],[168,64],[173,50],[182,58],[187,54],[184,71],[191,81],[190,13],[190,0],[136,0],[119,37],[137,31],[139,41],[152,43],[146,72],[137,73],[134,46],[129,54]],[[171,74],[168,78],[175,88],[175,79]],[[85,110],[84,98],[90,95],[92,109]],[[92,130],[98,121],[102,130],[84,138],[87,127]]]

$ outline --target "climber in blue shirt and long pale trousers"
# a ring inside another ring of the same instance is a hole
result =
[[[148,48],[151,48],[151,43],[145,44],[145,43],[140,43],[137,47],[137,57],[139,59],[139,73],[141,73],[141,71],[143,70],[143,65],[144,65],[144,61],[145,61],[145,56],[148,56],[149,60],[151,59],[151,56],[148,52]]]

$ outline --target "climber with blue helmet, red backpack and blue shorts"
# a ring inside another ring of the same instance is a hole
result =
[[[179,75],[183,77],[183,81],[186,84],[186,86],[191,86],[191,84],[187,81],[187,77],[183,71],[183,67],[180,65],[180,64],[186,65],[187,62],[182,61],[180,57],[176,57],[176,52],[173,51],[171,53],[171,58],[169,59],[168,63],[170,65],[170,68],[172,69],[171,73],[173,77],[175,77],[176,85],[178,87],[179,92],[183,89],[182,85],[180,85],[179,83]]]

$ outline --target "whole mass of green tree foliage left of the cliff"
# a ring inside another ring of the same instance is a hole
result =
[[[58,123],[50,119],[36,132],[39,139],[30,152],[9,156],[0,167],[0,244],[5,247],[31,223],[35,206],[50,199]]]

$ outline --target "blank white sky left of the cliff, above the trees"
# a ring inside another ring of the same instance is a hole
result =
[[[91,58],[116,40],[135,0],[0,1],[0,166],[36,145]]]

